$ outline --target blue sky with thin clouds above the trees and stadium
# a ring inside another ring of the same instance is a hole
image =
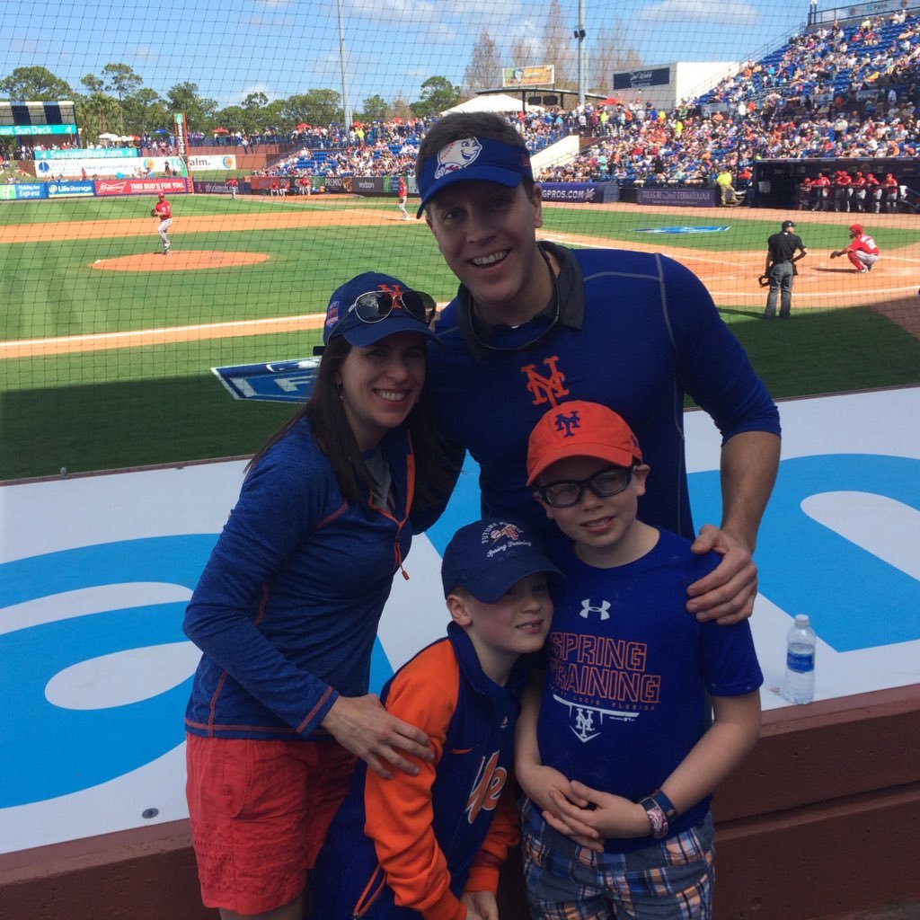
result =
[[[579,0],[558,2],[575,29]],[[518,63],[512,42],[539,40],[549,8],[549,0],[3,0],[0,78],[39,65],[83,92],[82,76],[126,63],[161,96],[190,82],[220,107],[253,92],[341,93],[339,3],[351,109],[375,94],[415,101],[433,75],[460,85],[483,31],[505,66]],[[799,31],[808,0],[581,0],[581,8],[589,55],[600,29],[618,27],[650,66],[762,54]]]

